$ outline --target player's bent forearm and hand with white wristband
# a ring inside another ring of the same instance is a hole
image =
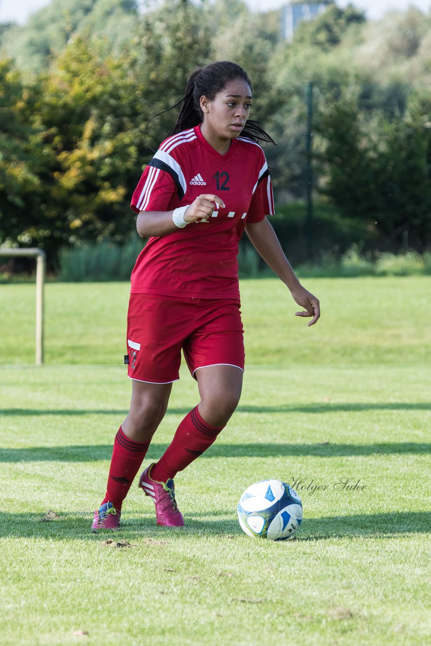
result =
[[[216,204],[224,208],[224,202],[216,195],[198,195],[184,212],[187,224],[206,221],[211,218]],[[162,237],[178,231],[173,220],[173,211],[140,211],[136,220],[136,229],[141,238]]]

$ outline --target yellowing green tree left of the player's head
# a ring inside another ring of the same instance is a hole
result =
[[[196,61],[206,62],[211,39],[198,18],[192,5],[165,3],[121,56],[106,56],[105,39],[76,36],[39,74],[28,114],[37,198],[22,198],[13,240],[43,247],[53,262],[64,245],[129,237],[148,142],[157,146],[176,115],[151,117],[178,101]]]

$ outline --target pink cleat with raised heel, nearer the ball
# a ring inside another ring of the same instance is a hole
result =
[[[165,483],[152,480],[150,472],[154,463],[150,464],[142,472],[139,479],[139,486],[145,495],[149,495],[154,505],[156,505],[157,525],[166,527],[183,527],[184,518],[176,506],[175,487],[172,478]]]

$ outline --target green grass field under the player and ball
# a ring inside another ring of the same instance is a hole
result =
[[[428,643],[431,278],[305,284],[310,329],[279,282],[244,281],[244,394],[176,478],[184,530],[157,527],[134,485],[112,544],[89,526],[129,404],[129,287],[49,284],[42,368],[34,287],[0,287],[2,645]],[[197,401],[181,377],[145,465]],[[296,481],[295,541],[238,526],[266,477]]]

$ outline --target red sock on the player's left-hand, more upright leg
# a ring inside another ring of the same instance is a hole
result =
[[[114,440],[107,492],[102,505],[110,501],[118,511],[121,510],[123,500],[131,488],[149,445],[149,442],[145,444],[133,442],[127,435],[124,435],[120,426]]]

